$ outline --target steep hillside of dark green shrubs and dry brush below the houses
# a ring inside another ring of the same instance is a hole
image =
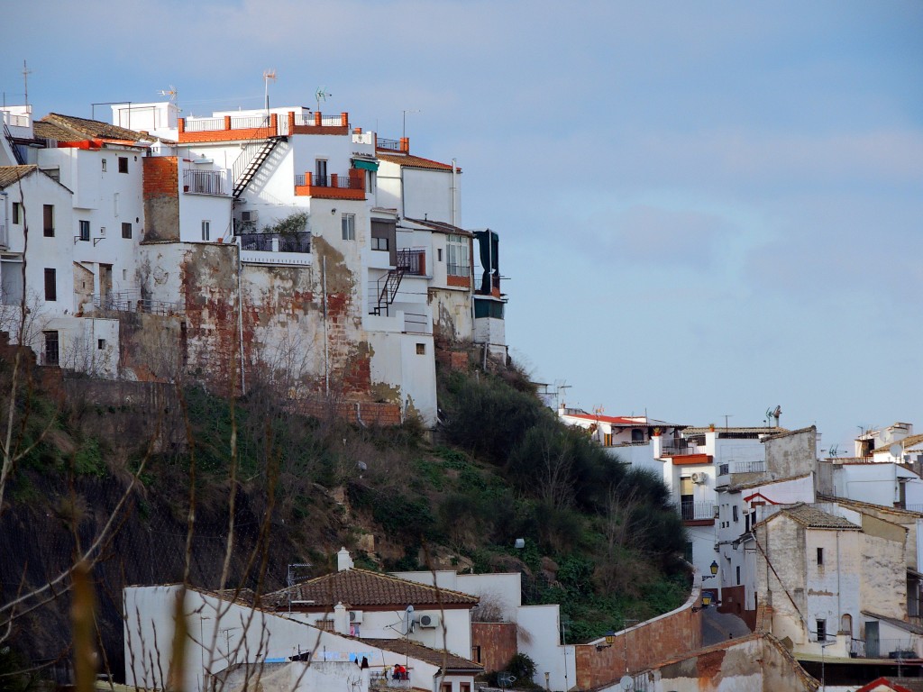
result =
[[[431,441],[413,422],[298,416],[271,383],[228,400],[47,371],[40,386],[28,367],[14,388],[12,369],[0,360],[0,391],[15,393],[12,416],[6,396],[0,411],[12,440],[0,637],[7,659],[42,674],[68,655],[81,556],[116,678],[125,585],[272,591],[291,564],[310,564],[299,577],[335,568],[341,545],[370,569],[521,571],[526,603],[561,604],[569,642],[688,593],[663,483],[559,424],[515,371],[440,373],[444,424]],[[490,619],[490,606],[476,616]]]

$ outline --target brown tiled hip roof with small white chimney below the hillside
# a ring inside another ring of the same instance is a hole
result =
[[[415,581],[355,568],[275,591],[268,594],[263,603],[268,607],[288,608],[290,596],[293,602],[310,601],[313,602],[313,608],[322,607],[327,610],[332,610],[337,603],[350,608],[393,606],[399,610],[408,605],[473,607],[478,603],[476,596],[461,591],[437,589]]]

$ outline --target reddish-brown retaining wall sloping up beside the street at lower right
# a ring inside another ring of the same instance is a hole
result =
[[[670,613],[619,633],[612,646],[597,649],[593,644],[574,647],[577,662],[577,686],[592,689],[617,681],[628,670],[641,671],[654,663],[677,658],[701,647],[701,612],[693,613],[700,587],[692,590],[689,600]]]

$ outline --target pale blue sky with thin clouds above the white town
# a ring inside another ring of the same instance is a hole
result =
[[[36,0],[0,89],[348,111],[455,157],[508,340],[568,402],[923,432],[923,3]],[[97,111],[99,115],[100,111]],[[851,445],[847,448],[851,449]]]

